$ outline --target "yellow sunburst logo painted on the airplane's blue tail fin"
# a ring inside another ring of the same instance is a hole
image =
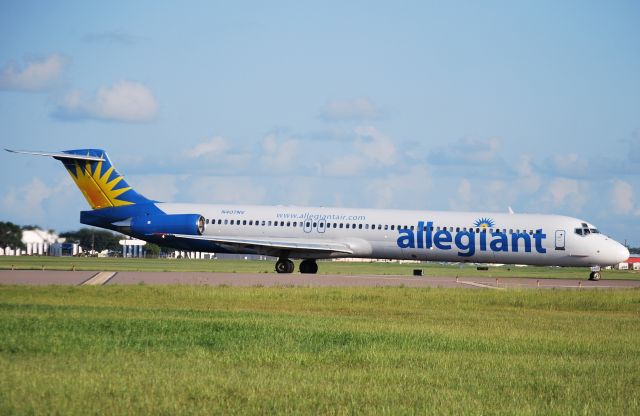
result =
[[[93,169],[92,165],[95,166]],[[99,209],[133,204],[133,202],[118,199],[120,195],[130,190],[131,187],[124,186],[114,189],[124,178],[121,175],[117,175],[112,180],[109,180],[113,173],[113,166],[109,166],[107,171],[102,173],[102,161],[74,161],[72,165],[67,165],[67,170],[89,205],[91,205],[91,208]],[[124,184],[127,185],[126,182]]]

